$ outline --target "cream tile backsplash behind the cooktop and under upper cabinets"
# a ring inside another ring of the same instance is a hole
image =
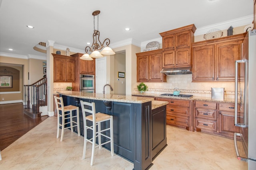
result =
[[[138,93],[137,85],[132,93]],[[174,88],[179,88],[180,94],[192,94],[199,97],[211,97],[212,87],[225,88],[225,98],[234,98],[234,82],[192,82],[192,74],[168,75],[167,82],[145,82],[148,93],[172,93]]]

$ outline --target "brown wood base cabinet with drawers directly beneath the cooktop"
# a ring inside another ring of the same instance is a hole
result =
[[[169,102],[166,105],[166,123],[194,131],[193,123],[193,100],[157,98],[160,101]]]

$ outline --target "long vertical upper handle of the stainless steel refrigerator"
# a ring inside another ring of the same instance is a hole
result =
[[[246,63],[246,67],[247,67],[247,61],[246,60],[236,60],[235,61],[235,126],[238,127],[246,127],[246,122],[244,121],[244,123],[237,123],[237,116],[238,116],[238,63]],[[246,72],[247,74],[247,72]],[[245,86],[246,88],[246,86]],[[244,89],[246,90],[246,89]],[[242,93],[242,92],[241,92]],[[241,101],[242,102],[242,101]],[[245,101],[244,101],[245,102]],[[246,119],[246,111],[244,113],[244,120]]]

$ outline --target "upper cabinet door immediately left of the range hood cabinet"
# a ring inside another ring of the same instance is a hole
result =
[[[163,80],[162,70],[162,53],[157,53],[149,56],[149,81],[159,82]]]

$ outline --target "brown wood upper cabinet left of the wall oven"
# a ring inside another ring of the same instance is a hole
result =
[[[54,59],[54,82],[74,82],[76,79],[74,57],[52,54]]]

